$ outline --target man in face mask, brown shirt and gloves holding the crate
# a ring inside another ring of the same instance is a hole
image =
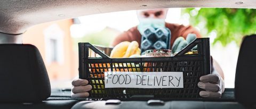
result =
[[[201,37],[200,33],[193,27],[185,27],[179,24],[166,23],[165,18],[168,9],[154,9],[154,10],[140,10],[137,11],[138,19],[140,24],[133,27],[117,36],[117,38],[112,43],[113,46],[121,43],[122,41],[138,41],[141,43],[141,33],[149,26],[154,28],[166,27],[171,31],[170,44],[173,46],[174,40],[178,37],[186,38],[189,33],[194,33],[197,37]],[[212,60],[212,58],[211,58]],[[205,89],[206,91],[201,91],[199,93],[202,97],[221,97],[225,87],[224,87],[224,76],[223,72],[217,62],[211,61],[212,74],[207,74],[206,76],[200,77],[200,82],[198,82],[198,87]],[[92,89],[91,85],[87,85],[88,81],[83,79],[75,79],[72,82],[71,97],[88,97]]]

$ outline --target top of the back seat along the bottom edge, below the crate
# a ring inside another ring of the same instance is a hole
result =
[[[96,109],[96,108],[188,108],[188,109],[211,109],[211,108],[227,108],[227,109],[241,109],[246,108],[243,105],[236,103],[236,102],[201,102],[201,101],[171,101],[171,102],[165,102],[164,105],[148,105],[147,102],[143,101],[127,101],[122,102],[121,104],[117,105],[106,105],[106,100],[97,101],[97,102],[91,102],[91,101],[83,101],[75,104],[72,109]]]

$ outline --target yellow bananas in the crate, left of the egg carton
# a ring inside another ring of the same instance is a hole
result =
[[[137,41],[123,41],[117,44],[111,51],[111,58],[130,57],[134,54],[140,54],[140,48]]]

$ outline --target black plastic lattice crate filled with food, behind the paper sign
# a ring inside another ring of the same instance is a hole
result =
[[[197,54],[187,54],[197,45]],[[97,99],[171,99],[201,98],[199,77],[209,74],[209,38],[197,38],[172,57],[110,58],[104,47],[79,43],[79,78],[89,80],[89,98]],[[109,51],[109,50],[107,50]],[[94,55],[94,56],[92,56]],[[98,56],[98,57],[97,57]],[[129,65],[130,64],[130,65]],[[136,64],[132,66],[131,64]],[[183,72],[183,88],[105,88],[106,71]]]

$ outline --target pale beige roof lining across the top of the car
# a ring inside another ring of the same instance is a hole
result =
[[[236,4],[243,2],[243,4]],[[142,6],[147,5],[147,6]],[[128,10],[170,7],[256,8],[256,1],[242,0],[3,0],[0,3],[0,32],[20,34],[35,24],[78,16]]]

